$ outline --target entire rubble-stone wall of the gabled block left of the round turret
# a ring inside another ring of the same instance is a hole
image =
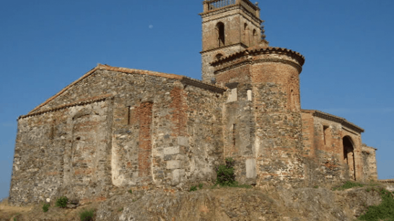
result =
[[[21,117],[10,201],[214,180],[227,97],[172,77],[95,70]]]

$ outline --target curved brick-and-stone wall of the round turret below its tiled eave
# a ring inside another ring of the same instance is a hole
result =
[[[265,61],[268,57],[279,61]],[[250,70],[258,179],[261,184],[284,181],[299,186],[303,182],[299,70],[282,59],[289,57],[258,55]]]

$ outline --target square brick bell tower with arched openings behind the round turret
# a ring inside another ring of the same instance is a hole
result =
[[[249,0],[205,0],[203,6],[202,78],[211,83],[215,76],[210,63],[259,44],[263,21],[258,3]]]

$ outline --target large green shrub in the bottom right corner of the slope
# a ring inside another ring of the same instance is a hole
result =
[[[379,189],[382,202],[377,206],[369,206],[368,211],[359,216],[359,220],[378,221],[387,220],[394,221],[394,198],[390,191]]]

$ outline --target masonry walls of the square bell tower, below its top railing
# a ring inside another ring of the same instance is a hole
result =
[[[251,10],[251,9],[250,9]],[[257,13],[258,14],[258,13]],[[259,17],[243,6],[233,5],[200,14],[202,17],[201,52],[203,81],[210,82],[214,76],[214,68],[209,64],[216,60],[216,55],[223,57],[254,46],[261,39]],[[224,24],[225,44],[219,45],[217,24]]]

